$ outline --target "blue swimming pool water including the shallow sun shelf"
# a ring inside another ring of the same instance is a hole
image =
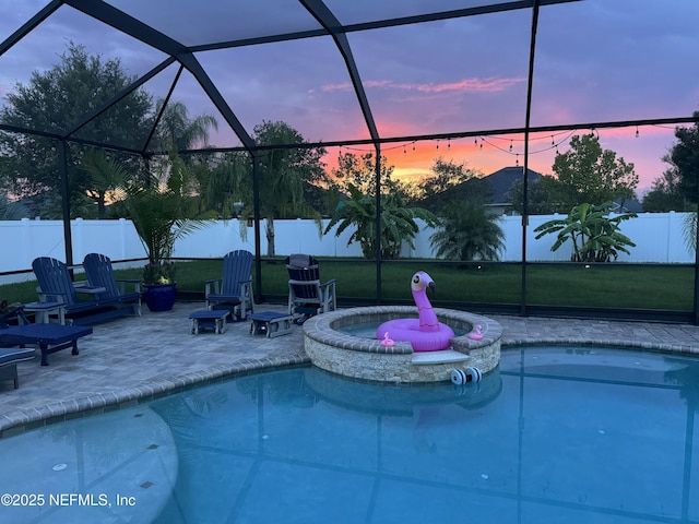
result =
[[[465,386],[263,372],[0,440],[0,522],[695,523],[698,408],[699,360],[619,349]]]

